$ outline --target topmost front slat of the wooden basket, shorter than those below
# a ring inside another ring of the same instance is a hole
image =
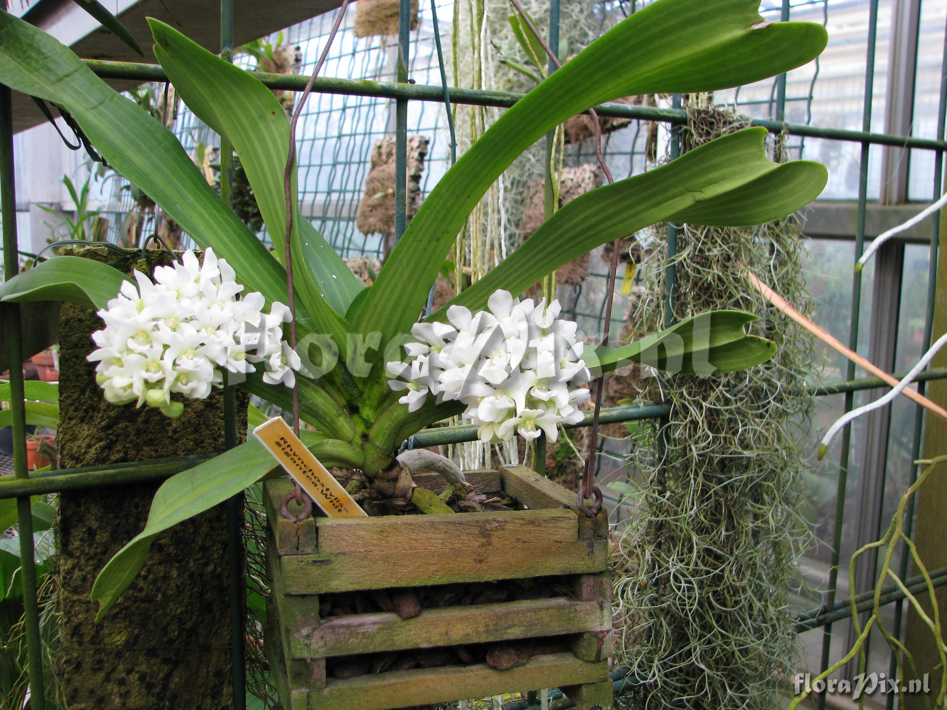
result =
[[[319,521],[319,556],[391,551],[399,553],[402,564],[411,564],[415,555],[443,550],[471,553],[499,545],[574,542],[578,528],[568,510],[325,518]]]

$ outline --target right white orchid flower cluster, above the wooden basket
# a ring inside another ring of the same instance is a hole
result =
[[[405,363],[387,364],[401,380],[389,380],[399,399],[415,412],[427,396],[438,403],[467,405],[482,441],[509,441],[513,434],[534,439],[542,432],[555,441],[558,425],[577,424],[589,399],[581,385],[591,380],[581,360],[576,324],[558,318],[559,301],[533,305],[507,291],[493,293],[489,311],[475,315],[462,306],[447,310],[445,323],[418,323],[417,343],[404,346]]]

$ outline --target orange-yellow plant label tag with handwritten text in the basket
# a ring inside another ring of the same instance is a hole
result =
[[[264,421],[253,430],[253,435],[326,515],[331,518],[368,517],[280,417]]]

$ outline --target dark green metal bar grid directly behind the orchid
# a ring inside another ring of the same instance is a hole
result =
[[[816,0],[817,1],[817,0]],[[558,0],[550,0],[550,5],[554,11],[550,16],[558,18]],[[811,0],[800,3],[802,5],[812,4]],[[621,3],[623,6],[624,3]],[[631,3],[634,11],[634,0]],[[947,43],[945,43],[945,53],[943,66],[941,69],[941,82],[938,104],[938,127],[937,138],[918,138],[905,137],[903,135],[889,133],[871,133],[871,109],[874,78],[874,63],[877,49],[877,27],[878,27],[878,6],[879,0],[870,0],[870,19],[868,27],[867,43],[867,72],[865,82],[865,102],[863,108],[863,125],[861,131],[825,128],[810,126],[806,124],[784,122],[782,119],[786,113],[787,101],[808,101],[811,107],[812,89],[808,97],[787,98],[786,97],[786,76],[782,75],[774,82],[775,98],[766,99],[761,102],[767,102],[775,108],[776,119],[757,119],[755,125],[763,126],[772,133],[788,133],[799,138],[801,150],[801,141],[806,137],[829,138],[831,140],[844,141],[860,147],[859,159],[859,194],[858,194],[858,227],[855,240],[855,257],[859,257],[864,249],[865,228],[866,228],[866,204],[868,198],[868,159],[870,149],[878,146],[892,146],[901,149],[910,149],[912,151],[928,151],[934,156],[934,193],[938,196],[941,191],[941,168],[943,163],[943,153],[947,150],[947,142],[943,140],[945,124],[945,102],[947,102]],[[221,3],[222,18],[222,39],[224,53],[229,54],[232,51],[232,23],[233,23],[233,0],[222,0]],[[790,0],[782,0],[781,6],[769,8],[770,11],[778,11],[779,19],[785,21],[789,18],[791,9]],[[407,21],[410,13],[410,0],[401,2],[402,31],[399,34],[398,51],[402,58],[406,58],[409,48],[409,32]],[[555,22],[555,19],[553,20]],[[558,27],[550,27],[558,33]],[[146,64],[124,64],[120,62],[95,62],[88,61],[87,64],[101,77],[106,78],[128,78],[137,80],[155,80],[164,81],[167,78],[160,66]],[[402,62],[402,67],[407,66],[407,62]],[[428,67],[430,68],[430,67]],[[315,89],[317,95],[335,97],[361,97],[361,98],[387,98],[395,100],[395,133],[398,145],[398,162],[396,168],[399,182],[396,185],[396,195],[401,196],[399,201],[399,214],[396,217],[396,231],[400,235],[403,232],[404,215],[404,161],[406,134],[408,130],[409,105],[411,101],[434,101],[442,102],[445,94],[449,94],[450,99],[456,103],[470,103],[491,105],[498,107],[509,107],[518,98],[518,95],[507,94],[503,92],[486,92],[476,90],[464,90],[450,88],[445,91],[441,86],[423,85],[408,83],[408,71],[402,69],[398,72],[395,82],[356,82],[350,80],[320,79],[316,81]],[[303,88],[306,78],[294,77],[292,75],[259,75],[259,79],[271,88],[287,89],[291,91],[300,91]],[[640,106],[608,105],[600,107],[600,115],[626,116],[640,120],[659,121],[669,125],[671,128],[681,125],[686,120],[686,113],[680,110],[679,98],[674,108],[655,109]],[[3,211],[3,240],[4,240],[4,266],[7,278],[12,277],[18,271],[17,263],[17,235],[15,220],[15,197],[13,180],[13,142],[12,142],[12,122],[11,122],[11,104],[10,91],[6,86],[0,86],[0,202],[2,202]],[[938,219],[933,222],[931,240],[930,240],[930,275],[928,280],[927,309],[924,328],[924,343],[926,348],[930,345],[933,328],[934,296],[937,288],[937,263],[938,263]],[[337,246],[342,246],[337,244]],[[345,249],[344,246],[342,246]],[[673,254],[674,240],[669,239],[668,248]],[[858,316],[861,306],[861,275],[854,275],[852,279],[852,317],[849,337],[849,346],[854,349],[857,346],[858,335]],[[24,606],[27,622],[27,658],[29,663],[29,679],[32,689],[32,703],[37,710],[45,710],[44,681],[42,671],[41,657],[41,639],[39,633],[39,617],[36,600],[36,574],[33,565],[33,536],[32,520],[30,514],[29,496],[41,493],[58,492],[63,490],[75,490],[81,488],[96,488],[99,486],[114,485],[117,483],[132,483],[141,481],[161,480],[173,475],[180,470],[186,470],[207,456],[192,456],[182,459],[165,459],[160,461],[138,462],[134,464],[117,465],[110,467],[97,467],[92,469],[80,470],[62,470],[55,472],[46,472],[29,476],[27,473],[26,450],[25,450],[25,407],[24,407],[24,389],[23,378],[20,370],[20,364],[23,362],[22,348],[20,343],[19,329],[19,306],[5,304],[3,308],[8,310],[8,329],[5,333],[10,360],[10,388],[11,388],[11,409],[13,412],[13,434],[14,434],[14,478],[10,481],[0,482],[0,498],[17,499],[19,521],[20,521],[20,544],[21,558],[23,564],[23,588],[24,588]],[[929,370],[925,376],[919,378],[919,389],[922,392],[924,382],[932,379],[947,377],[947,370]],[[822,387],[813,390],[813,395],[824,396],[833,394],[845,394],[845,407],[849,410],[853,404],[853,396],[856,391],[867,390],[877,387],[879,382],[873,378],[855,379],[855,366],[848,366],[846,382],[835,383],[828,387]],[[231,387],[227,388],[232,395]],[[232,402],[232,397],[228,399]],[[632,421],[644,418],[660,418],[667,413],[667,405],[656,403],[644,406],[616,407],[609,410],[603,410],[602,421]],[[920,455],[921,435],[923,426],[923,412],[918,408],[915,417],[915,431],[913,439],[913,457]],[[590,418],[590,417],[589,417]],[[235,412],[233,405],[227,407],[226,412],[228,443],[232,443],[235,434]],[[588,420],[579,426],[587,425]],[[232,431],[231,431],[232,430]],[[423,432],[414,437],[412,444],[414,446],[431,446],[440,443],[456,443],[460,441],[474,440],[475,432],[473,427],[454,427],[442,428],[436,431]],[[827,604],[824,612],[810,614],[809,628],[823,626],[824,644],[823,644],[823,668],[828,666],[829,649],[831,643],[831,623],[844,616],[843,612],[833,612],[843,602],[836,602],[835,592],[837,588],[837,564],[838,549],[842,522],[844,520],[844,493],[846,489],[846,476],[849,468],[849,450],[851,444],[850,426],[846,428],[843,439],[842,461],[839,470],[838,495],[836,498],[837,507],[834,521],[835,537],[833,541],[834,565],[832,577],[830,580],[830,589]],[[912,470],[912,480],[917,475],[917,468]],[[908,516],[910,520],[910,516]],[[910,523],[908,523],[910,524]],[[240,521],[236,516],[231,516],[229,526],[231,537],[235,544],[239,544],[239,525]],[[232,602],[232,622],[234,635],[234,689],[235,689],[235,707],[243,708],[245,696],[243,693],[243,673],[242,673],[242,616],[241,616],[241,594],[242,579],[239,569],[239,555],[232,557],[232,575],[233,590],[231,594]],[[906,574],[906,559],[902,561],[902,577]],[[234,574],[236,573],[236,574]],[[947,580],[947,577],[944,577]],[[894,595],[890,599],[892,602],[899,602],[901,598]],[[897,606],[897,624],[900,625],[902,606]],[[844,610],[843,610],[844,611]],[[817,623],[813,623],[817,622]],[[896,631],[897,632],[897,631]],[[893,696],[889,696],[889,701],[893,701]],[[820,698],[820,707],[824,707],[825,696]]]

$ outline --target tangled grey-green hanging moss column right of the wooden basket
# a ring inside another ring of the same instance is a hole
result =
[[[690,97],[687,111],[683,158],[741,135],[750,120],[707,96]],[[773,150],[785,159],[781,136]],[[669,228],[655,230],[649,249],[639,246],[645,294],[629,333],[660,328],[669,315],[741,309],[759,314],[751,331],[777,352],[742,372],[626,385],[639,388],[641,402],[667,401],[670,413],[667,426],[635,432],[637,475],[616,488],[631,506],[613,559],[619,655],[645,681],[651,708],[775,708],[776,679],[795,668],[786,597],[808,535],[797,436],[812,415],[813,341],[749,288],[744,272],[765,275],[807,311],[800,225],[792,215],[750,227],[685,223],[672,254]]]

